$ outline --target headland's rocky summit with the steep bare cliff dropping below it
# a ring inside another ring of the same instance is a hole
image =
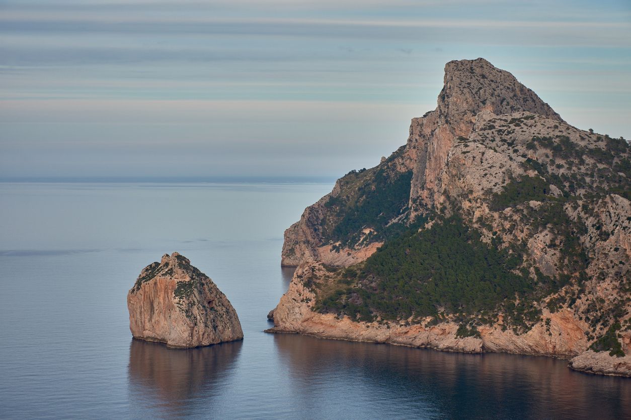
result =
[[[413,215],[432,204],[453,140],[469,137],[482,111],[495,115],[528,111],[562,121],[533,91],[487,60],[448,62],[437,108],[411,123],[406,147],[418,150],[410,193]]]

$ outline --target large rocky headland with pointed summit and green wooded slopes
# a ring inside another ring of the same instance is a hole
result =
[[[631,148],[484,59],[285,231],[269,332],[570,360],[631,375]]]

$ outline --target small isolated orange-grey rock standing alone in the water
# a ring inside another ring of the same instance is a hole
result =
[[[127,293],[134,338],[173,348],[208,346],[243,338],[228,298],[184,256],[164,254],[141,271]]]

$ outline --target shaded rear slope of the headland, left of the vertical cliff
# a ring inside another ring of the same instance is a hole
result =
[[[341,267],[372,255],[408,216],[413,162],[411,150],[401,147],[379,166],[338,179],[331,193],[285,230],[281,265],[314,258]]]

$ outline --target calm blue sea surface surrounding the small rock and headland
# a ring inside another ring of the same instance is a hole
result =
[[[631,380],[567,362],[262,332],[282,233],[331,184],[0,183],[0,417],[631,418]],[[245,339],[131,338],[127,290],[178,251]]]

